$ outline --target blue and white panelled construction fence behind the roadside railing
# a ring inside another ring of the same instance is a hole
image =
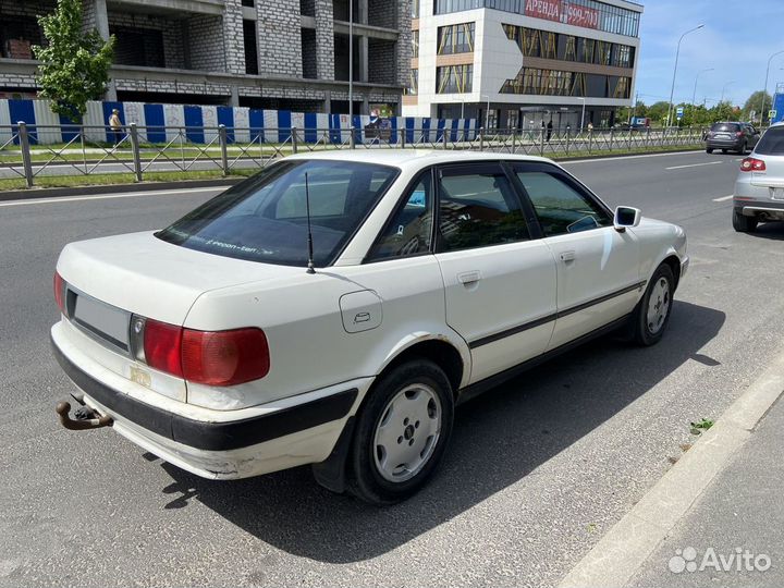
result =
[[[366,128],[371,119],[367,115],[323,114],[314,112],[291,112],[289,110],[260,110],[223,106],[157,105],[144,102],[94,101],[87,103],[84,118],[85,138],[96,143],[112,143],[109,128],[112,111],[120,111],[123,125],[136,123],[139,139],[146,143],[166,144],[177,140],[184,133],[189,143],[209,144],[217,138],[218,126],[226,127],[229,143],[284,143],[291,137],[291,130],[297,130],[297,139],[305,143],[346,143],[351,127]],[[78,127],[73,122],[54,114],[49,100],[0,100],[0,145],[10,142],[14,126],[25,122],[30,143],[51,145],[69,143],[77,136]],[[381,132],[357,133],[357,142],[396,144],[405,136],[406,143],[432,143],[446,139],[474,140],[478,135],[475,119],[424,119],[393,117],[373,120],[381,124]],[[103,128],[100,128],[103,127]],[[401,133],[405,130],[405,133]],[[326,137],[327,135],[327,137]],[[14,138],[14,143],[17,143]]]

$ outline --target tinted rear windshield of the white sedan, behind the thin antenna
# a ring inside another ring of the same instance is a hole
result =
[[[306,267],[306,174],[314,262],[329,266],[397,176],[396,169],[350,161],[283,161],[156,236],[224,257]]]

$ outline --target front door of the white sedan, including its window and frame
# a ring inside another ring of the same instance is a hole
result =
[[[555,166],[518,163],[523,185],[558,267],[556,348],[630,313],[642,292],[639,244],[610,210]]]

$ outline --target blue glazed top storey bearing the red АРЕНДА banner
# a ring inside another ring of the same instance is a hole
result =
[[[436,14],[474,9],[494,9],[532,19],[593,28],[627,37],[639,36],[640,13],[598,0],[434,0]]]

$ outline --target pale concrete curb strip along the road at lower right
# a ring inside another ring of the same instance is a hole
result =
[[[784,393],[781,353],[558,585],[625,586]]]

